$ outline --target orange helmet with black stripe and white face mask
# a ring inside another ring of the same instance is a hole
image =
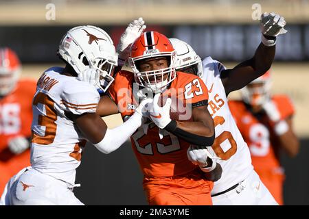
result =
[[[168,68],[139,71],[138,62],[153,57],[167,57]],[[154,93],[163,92],[176,78],[175,61],[176,51],[172,47],[170,40],[157,31],[148,31],[141,34],[132,44],[128,58],[135,81],[139,86],[148,88]]]

